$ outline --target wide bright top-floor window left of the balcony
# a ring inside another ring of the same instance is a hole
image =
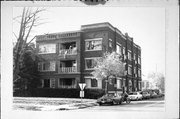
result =
[[[39,54],[56,53],[56,44],[40,44]]]

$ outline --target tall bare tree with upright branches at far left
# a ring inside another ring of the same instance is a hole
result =
[[[27,46],[35,39],[35,36],[29,41],[28,38],[33,27],[40,25],[40,17],[39,13],[44,11],[43,8],[37,8],[32,10],[32,8],[23,8],[22,16],[18,16],[14,18],[21,18],[19,35],[16,36],[17,42],[13,49],[14,62],[13,62],[13,82],[18,81],[20,79],[20,67],[23,61],[23,54],[26,51]]]

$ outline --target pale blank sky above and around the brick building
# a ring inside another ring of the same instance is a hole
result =
[[[13,18],[22,13],[13,8]],[[80,30],[81,25],[109,22],[141,47],[142,79],[151,72],[165,75],[165,9],[158,7],[48,7],[40,14],[43,23],[31,37],[46,33]],[[13,22],[18,34],[19,23]],[[13,42],[14,42],[13,35]]]

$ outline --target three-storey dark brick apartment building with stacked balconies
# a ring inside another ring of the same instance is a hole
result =
[[[108,90],[141,90],[141,48],[127,33],[122,34],[108,22],[82,25],[79,31],[38,35],[36,45],[41,57],[38,63],[40,90],[59,97],[65,95],[63,91],[77,90],[72,97],[79,97],[78,84],[86,83],[85,97],[102,95],[105,81],[96,80],[91,72],[96,58],[113,51],[123,56],[126,71],[123,77],[108,83]]]

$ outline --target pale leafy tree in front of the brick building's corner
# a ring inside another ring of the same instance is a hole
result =
[[[124,63],[122,57],[116,52],[105,53],[102,58],[96,60],[95,70],[91,73],[97,79],[106,79],[105,93],[107,93],[107,82],[111,76],[121,77],[124,75]]]

